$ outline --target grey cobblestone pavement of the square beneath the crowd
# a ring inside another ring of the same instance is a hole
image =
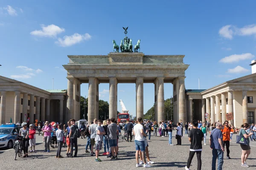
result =
[[[175,139],[175,133],[173,132],[172,141],[173,144],[177,144]],[[153,133],[152,133],[153,134]],[[143,167],[136,168],[135,159],[135,146],[134,142],[122,142],[119,140],[119,157],[116,160],[110,160],[105,156],[99,156],[102,162],[96,162],[95,156],[90,156],[89,153],[84,153],[85,144],[87,139],[78,139],[78,157],[77,158],[62,158],[56,159],[55,154],[57,149],[51,149],[50,153],[44,153],[44,144],[42,143],[42,136],[37,137],[37,153],[29,153],[28,158],[17,158],[14,160],[15,152],[11,150],[0,150],[0,167],[1,169],[20,169],[20,170],[35,170],[46,168],[47,170],[65,170],[72,167],[76,170],[90,169],[90,170],[103,170],[104,169],[142,169]],[[202,152],[202,170],[210,170],[212,162],[212,153],[209,148],[209,135],[207,136],[207,145],[203,145]],[[233,135],[233,139],[236,139],[236,134]],[[182,170],[185,169],[186,162],[189,154],[189,141],[187,135],[182,138],[181,146],[169,146],[168,137],[151,137],[149,144],[149,154],[152,164],[150,169],[155,170]],[[241,170],[241,169],[256,169],[256,142],[250,142],[251,154],[247,160],[247,164],[250,167],[241,167],[241,147],[236,142],[230,143],[230,157],[232,159],[225,159],[226,151],[224,153],[223,170]],[[65,156],[67,147],[62,148],[62,156]],[[102,147],[102,152],[103,147]],[[102,152],[100,154],[102,154]],[[196,155],[192,160],[190,166],[191,170],[197,169]]]

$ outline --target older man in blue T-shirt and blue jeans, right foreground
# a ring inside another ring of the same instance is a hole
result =
[[[218,170],[222,170],[223,165],[223,153],[225,151],[222,144],[222,124],[221,122],[216,123],[216,128],[212,130],[209,143],[210,148],[212,149],[212,170],[216,169],[216,159],[218,158]]]

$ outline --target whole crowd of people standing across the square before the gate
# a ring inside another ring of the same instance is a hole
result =
[[[82,125],[82,130],[75,124],[75,120],[71,119],[66,125],[58,124],[58,122],[36,122],[34,125],[29,125],[27,123],[22,123],[22,128],[20,129],[20,136],[23,136],[23,157],[28,157],[28,147],[30,146],[29,152],[35,152],[35,132],[38,130],[38,135],[42,132],[44,141],[44,152],[50,152],[50,140],[52,140],[52,147],[58,147],[56,158],[63,158],[61,156],[61,148],[63,143],[67,144],[67,157],[77,157],[78,146],[77,138],[80,135],[87,138],[87,144],[85,146],[85,153],[90,153],[91,156],[95,156],[95,161],[102,161],[99,159],[99,152],[102,150],[102,144],[104,145],[104,153],[106,158],[115,160],[118,158],[118,139],[121,129],[124,128],[127,133],[127,142],[132,142],[134,136],[135,150],[136,150],[136,167],[151,167],[149,164],[154,164],[149,158],[148,153],[148,140],[151,139],[151,133],[154,136],[169,137],[169,145],[173,146],[172,143],[172,131],[176,130],[175,139],[177,139],[176,145],[181,145],[181,139],[183,136],[183,121],[177,122],[174,125],[173,121],[162,121],[162,122],[151,122],[149,120],[144,121],[141,117],[137,121],[131,122],[127,121],[124,124],[119,124],[114,118],[107,120],[97,120],[94,119],[90,122],[90,125]],[[241,166],[249,167],[246,164],[246,160],[250,155],[250,141],[256,141],[256,125],[244,123],[240,128],[235,128],[225,121],[223,124],[221,122],[201,122],[200,120],[194,120],[184,125],[185,134],[189,137],[190,151],[186,170],[189,170],[193,156],[197,155],[198,159],[198,170],[201,170],[201,152],[202,152],[202,141],[204,145],[207,145],[206,136],[207,133],[209,137],[209,146],[212,149],[212,169],[215,170],[216,159],[218,159],[218,170],[222,169],[225,146],[227,150],[227,159],[230,158],[230,141],[232,140],[233,133],[238,133],[239,136],[244,136],[246,138],[247,144],[240,144],[241,153]],[[95,147],[94,147],[95,145]],[[88,151],[88,147],[90,152]],[[95,152],[93,152],[95,148]],[[75,151],[73,154],[73,150]],[[142,165],[143,164],[143,165]]]

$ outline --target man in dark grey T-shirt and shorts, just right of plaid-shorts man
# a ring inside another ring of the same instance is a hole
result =
[[[111,153],[110,155],[108,155],[107,157],[111,157],[112,156],[112,160],[116,159],[117,155],[114,155],[114,151],[117,154],[117,125],[114,123],[115,122],[115,118],[111,118],[110,119],[111,124],[108,125],[108,129],[107,129],[107,133],[108,133],[108,141],[109,141],[109,146],[111,147]]]

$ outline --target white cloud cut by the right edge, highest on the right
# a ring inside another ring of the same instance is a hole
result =
[[[236,26],[227,25],[221,27],[219,30],[219,34],[221,37],[232,39],[234,35],[246,36],[246,35],[255,35],[256,36],[256,24],[244,26],[242,28],[238,28]]]

